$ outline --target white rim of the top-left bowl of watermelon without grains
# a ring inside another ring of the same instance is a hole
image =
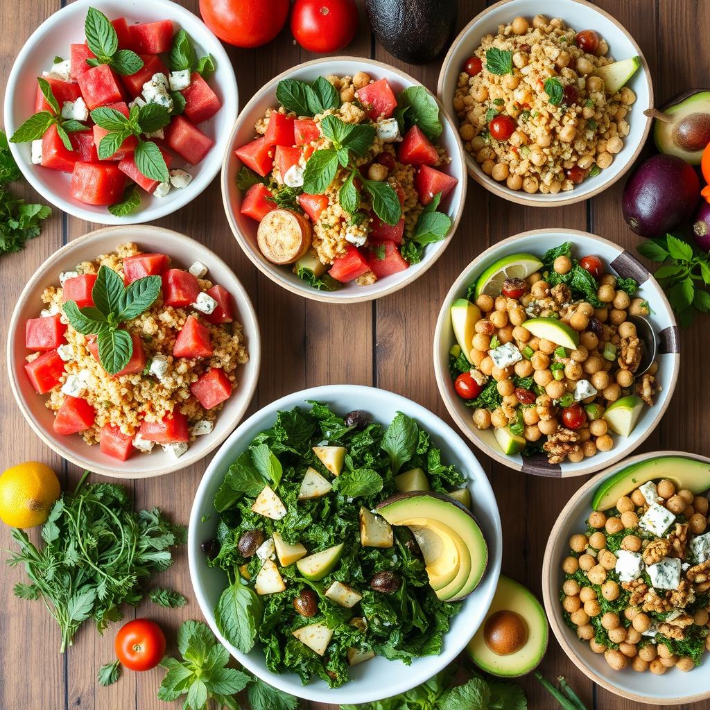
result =
[[[217,60],[217,72],[214,76],[217,77],[218,73],[226,75],[224,76],[224,79],[219,82],[219,86],[222,89],[222,92],[224,92],[224,101],[220,111],[229,109],[229,106],[234,104],[234,110],[232,111],[234,115],[228,116],[225,119],[222,135],[220,136],[217,134],[214,138],[214,146],[210,148],[210,152],[215,151],[214,159],[212,160],[212,163],[214,163],[212,168],[205,170],[203,175],[200,175],[197,180],[191,182],[190,185],[188,185],[184,190],[180,192],[176,191],[177,194],[175,197],[168,197],[163,202],[158,203],[157,206],[151,207],[151,214],[148,217],[146,217],[145,210],[141,208],[133,214],[126,215],[126,217],[114,217],[108,209],[105,214],[102,212],[92,212],[91,210],[84,209],[84,207],[81,207],[80,204],[72,201],[68,195],[67,197],[58,195],[58,193],[54,190],[49,190],[41,182],[35,180],[29,165],[26,163],[26,160],[20,151],[18,143],[10,143],[8,141],[12,156],[15,159],[18,168],[20,168],[23,178],[29,182],[34,190],[36,190],[45,200],[50,202],[50,204],[53,204],[55,207],[58,207],[58,209],[61,209],[62,212],[67,212],[67,214],[71,214],[72,217],[84,219],[87,222],[93,222],[94,224],[124,226],[126,224],[153,222],[155,219],[167,217],[168,214],[173,214],[173,212],[177,212],[178,209],[185,207],[186,204],[190,204],[192,200],[195,200],[196,197],[201,195],[202,192],[209,187],[214,180],[214,176],[219,173],[219,169],[222,167],[222,160],[219,157],[220,143],[224,144],[224,148],[227,147],[228,144],[226,143],[226,138],[224,136],[227,135],[229,126],[234,123],[236,116],[239,113],[239,87],[236,83],[234,67],[231,65],[231,60],[224,49],[224,45],[222,45],[217,37],[214,37],[212,31],[210,31],[207,25],[202,22],[202,18],[172,0],[141,0],[141,4],[143,3],[155,5],[158,8],[163,7],[170,13],[177,13],[180,17],[186,16],[186,14],[189,15],[190,23],[197,23],[197,26],[200,27],[201,31],[204,31],[204,35],[211,38],[213,43],[209,46],[209,53],[211,53],[215,60]],[[12,102],[16,86],[21,79],[26,57],[34,50],[35,45],[40,42],[42,37],[46,35],[48,31],[57,26],[58,23],[64,21],[65,15],[68,13],[65,13],[65,11],[70,11],[71,13],[81,13],[82,10],[86,10],[89,7],[96,6],[97,4],[100,5],[101,3],[97,3],[97,0],[75,0],[69,5],[62,6],[46,18],[45,21],[43,21],[43,23],[41,23],[40,26],[38,26],[38,28],[35,29],[35,31],[27,38],[26,42],[22,46],[22,49],[18,53],[16,60],[13,62],[6,83],[4,118],[8,138],[18,127],[12,119]],[[207,157],[204,159],[206,160]],[[48,168],[48,170],[49,169],[50,168]],[[170,195],[170,193],[168,193],[168,195]],[[141,197],[143,197],[143,195],[141,195]]]

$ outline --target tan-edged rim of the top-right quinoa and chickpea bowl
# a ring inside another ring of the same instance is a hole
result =
[[[653,84],[651,82],[651,72],[650,69],[648,68],[648,62],[646,61],[645,55],[641,51],[640,47],[638,46],[638,43],[636,43],[636,40],[633,38],[633,36],[629,33],[629,31],[619,22],[613,15],[610,13],[606,12],[606,10],[601,9],[601,7],[596,6],[592,4],[591,2],[588,2],[587,0],[564,0],[566,2],[572,3],[572,4],[578,4],[578,5],[583,5],[591,10],[596,11],[599,15],[601,15],[603,18],[605,18],[607,21],[611,22],[618,30],[620,30],[626,38],[630,41],[630,43],[633,45],[633,47],[636,50],[636,53],[638,54],[640,60],[641,60],[641,70],[643,71],[643,75],[645,77],[646,83],[648,84],[648,103],[649,107],[653,107]],[[443,89],[444,89],[444,78],[449,74],[449,72],[452,72],[452,58],[454,55],[454,52],[457,48],[457,45],[461,41],[464,40],[464,36],[466,33],[469,32],[469,30],[479,21],[481,21],[488,13],[490,13],[493,10],[498,9],[499,7],[503,5],[510,5],[511,10],[513,9],[513,6],[515,6],[515,0],[498,0],[493,5],[489,5],[486,7],[486,9],[482,10],[479,12],[466,26],[459,32],[457,37],[454,39],[454,41],[451,44],[451,47],[449,48],[449,51],[447,52],[447,55],[444,57],[444,61],[442,62],[442,68],[441,71],[439,72],[439,81],[437,83],[437,96],[439,97],[439,100],[443,103],[444,102],[444,97],[442,95]],[[545,7],[542,5],[542,9],[544,10]],[[457,72],[458,73],[458,72]],[[498,182],[493,180],[492,178],[489,178],[488,175],[485,175],[484,173],[481,173],[480,170],[477,169],[477,164],[474,158],[468,153],[468,151],[465,150],[464,148],[464,159],[466,160],[466,168],[468,170],[469,175],[471,175],[471,178],[474,178],[476,182],[479,183],[479,185],[483,186],[488,190],[489,192],[493,192],[493,195],[496,195],[497,197],[503,197],[504,200],[508,200],[509,202],[516,202],[517,204],[525,204],[528,205],[529,207],[560,207],[563,204],[574,204],[574,202],[581,202],[583,200],[589,200],[591,197],[595,197],[596,195],[599,195],[600,192],[603,192],[606,190],[608,187],[611,187],[615,182],[623,178],[623,175],[626,175],[628,173],[628,170],[632,167],[632,165],[636,162],[636,159],[640,155],[641,151],[643,150],[643,147],[646,144],[646,139],[648,138],[648,134],[650,133],[651,130],[651,124],[652,124],[652,119],[650,116],[644,116],[645,117],[645,128],[643,131],[643,136],[641,136],[640,141],[638,143],[638,146],[636,147],[635,151],[633,152],[633,155],[628,158],[626,166],[619,171],[618,175],[615,175],[611,177],[611,175],[608,177],[606,182],[602,182],[599,187],[596,187],[596,190],[591,190],[589,192],[582,192],[581,190],[569,190],[569,192],[564,193],[563,197],[558,197],[557,200],[545,200],[544,202],[542,200],[537,200],[535,199],[534,195],[528,196],[527,193],[523,192],[521,193],[520,191],[518,192],[508,192],[506,190],[502,190],[501,187],[498,185]],[[636,120],[636,119],[634,119]],[[456,124],[458,126],[458,121]],[[558,195],[563,195],[562,192],[559,192]]]

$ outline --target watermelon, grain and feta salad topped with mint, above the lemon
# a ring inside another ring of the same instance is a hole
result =
[[[212,432],[249,360],[234,300],[207,267],[136,244],[59,275],[25,326],[25,371],[58,435],[126,461],[155,444],[180,457]]]

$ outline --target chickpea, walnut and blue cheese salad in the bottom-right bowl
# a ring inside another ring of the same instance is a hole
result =
[[[656,479],[570,537],[564,619],[614,670],[690,671],[710,650],[707,515],[706,491]]]

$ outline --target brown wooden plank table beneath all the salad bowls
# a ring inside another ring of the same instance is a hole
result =
[[[452,1],[452,0],[444,0]],[[16,54],[31,32],[58,11],[64,0],[4,0],[0,4],[0,94]],[[197,11],[196,0],[183,4]],[[359,2],[362,10],[364,3]],[[710,43],[703,29],[710,28],[710,3],[706,0],[598,0],[599,6],[615,15],[640,44],[651,68],[658,99],[665,100],[687,87],[707,84]],[[100,6],[100,1],[97,0]],[[484,0],[459,0],[459,26],[479,13]],[[545,4],[540,4],[545,11]],[[580,28],[581,29],[581,28]],[[361,11],[361,28],[347,52],[390,62],[436,89],[439,64],[425,67],[403,65],[393,60],[372,37],[366,15]],[[312,58],[293,43],[284,31],[274,42],[257,50],[229,49],[234,62],[241,104],[264,83],[299,62]],[[195,202],[178,214],[163,219],[161,226],[185,232],[207,244],[222,256],[241,278],[259,317],[263,338],[261,384],[250,412],[275,398],[305,387],[328,383],[361,383],[402,393],[447,417],[432,371],[431,334],[439,304],[449,285],[476,254],[490,244],[525,229],[564,226],[595,232],[617,241],[627,249],[638,242],[624,225],[619,202],[624,180],[589,202],[564,209],[535,209],[515,206],[488,194],[469,182],[468,204],[456,236],[435,268],[409,288],[377,302],[337,307],[322,305],[273,285],[256,271],[229,231],[222,212],[222,195],[216,179]],[[32,197],[26,189],[26,197]],[[3,339],[16,295],[27,278],[62,244],[94,229],[94,225],[55,210],[43,233],[22,253],[1,257],[0,275],[4,307],[0,315]],[[677,392],[660,427],[643,449],[681,449],[710,454],[710,440],[702,425],[706,410],[703,375],[710,351],[707,317],[682,334],[683,363]],[[80,471],[48,450],[19,413],[11,396],[3,366],[0,395],[0,470],[20,461],[45,461],[58,471],[62,486],[73,486]],[[503,518],[503,572],[519,579],[540,594],[540,569],[547,533],[557,513],[580,480],[552,480],[525,477],[492,464],[478,454],[496,491]],[[175,520],[186,522],[192,497],[207,460],[166,478],[129,482],[136,504],[160,506]],[[9,530],[0,529],[0,548],[11,547]],[[128,618],[149,614],[175,638],[175,630],[186,618],[201,618],[192,599],[187,556],[178,553],[165,582],[182,591],[190,603],[177,611],[163,610],[151,603],[129,609]],[[16,599],[13,585],[23,579],[21,569],[4,567],[0,575],[0,707],[7,710],[159,710],[168,707],[155,697],[162,672],[126,673],[109,688],[97,687],[99,666],[113,658],[117,628],[99,636],[92,626],[77,634],[75,645],[65,655],[58,652],[60,638],[40,602]],[[174,646],[174,645],[173,645]],[[554,678],[564,674],[591,710],[626,709],[642,706],[620,699],[594,684],[567,659],[555,640],[542,664],[542,672]],[[699,672],[706,672],[699,671]],[[520,679],[533,710],[553,704],[530,677]],[[178,707],[178,704],[175,704]],[[312,704],[324,710],[335,706]],[[651,706],[643,706],[651,707]],[[710,702],[697,705],[710,709]]]

